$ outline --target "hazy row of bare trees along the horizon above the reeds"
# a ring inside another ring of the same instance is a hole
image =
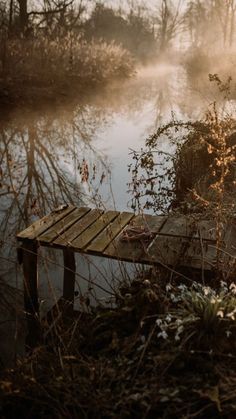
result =
[[[232,47],[235,40],[235,0],[129,1],[123,7],[105,1],[0,0],[2,36],[83,34],[85,39],[114,41],[142,60],[173,45]]]

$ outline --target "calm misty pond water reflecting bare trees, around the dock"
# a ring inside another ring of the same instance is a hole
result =
[[[19,309],[22,296],[14,291],[22,290],[21,271],[16,263],[16,232],[62,203],[127,209],[129,148],[142,146],[145,137],[165,122],[172,111],[189,118],[193,109],[186,108],[185,82],[181,67],[163,65],[141,70],[136,79],[123,86],[110,86],[86,104],[39,113],[21,111],[2,121],[0,287],[2,294],[11,290],[17,295],[18,303],[13,304],[14,316],[11,298],[8,310],[1,305],[0,327],[12,320],[15,341],[19,339],[16,330],[19,330],[18,314],[22,312]],[[50,259],[53,263],[50,267],[45,262],[39,273],[44,278],[44,285],[39,288],[44,310],[61,292],[60,258],[60,252],[53,257],[48,251],[41,252],[43,262]],[[82,276],[88,277],[82,291],[79,290],[80,304],[81,293],[92,295],[92,303],[104,297],[104,289],[105,294],[112,294],[115,282],[110,278],[116,281],[119,264],[113,264],[113,274],[110,264],[101,260],[97,264],[96,258],[91,262],[78,257],[78,264]],[[122,269],[125,276],[126,268]],[[103,291],[98,287],[96,295],[92,292],[91,278],[102,284]]]

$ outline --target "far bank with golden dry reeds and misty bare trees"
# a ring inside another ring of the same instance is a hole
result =
[[[232,75],[236,0],[126,1],[0,0],[0,102],[86,90],[156,59],[181,57],[190,78]]]

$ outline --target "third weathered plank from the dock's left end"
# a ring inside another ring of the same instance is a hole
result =
[[[103,214],[102,210],[94,209],[85,216],[73,224],[63,236],[58,237],[54,240],[53,244],[59,246],[72,246],[73,240],[80,236],[90,225],[92,225],[101,215]]]

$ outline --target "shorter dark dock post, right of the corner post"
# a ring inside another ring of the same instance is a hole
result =
[[[63,250],[64,257],[64,282],[63,282],[63,299],[68,305],[70,312],[73,311],[74,293],[75,293],[75,255],[70,249]]]

